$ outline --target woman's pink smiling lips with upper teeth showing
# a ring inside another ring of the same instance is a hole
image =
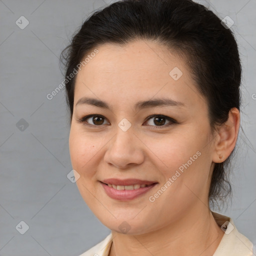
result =
[[[134,178],[109,178],[100,181],[100,183],[109,197],[117,200],[126,201],[145,193],[154,185],[156,185],[157,182]]]

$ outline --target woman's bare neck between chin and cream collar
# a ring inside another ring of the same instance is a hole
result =
[[[208,256],[215,252],[223,234],[211,211],[202,204],[175,223],[149,233],[130,235],[112,230],[109,256]]]

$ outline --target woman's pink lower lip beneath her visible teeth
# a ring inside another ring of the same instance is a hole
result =
[[[116,200],[121,200],[121,201],[127,201],[127,200],[131,200],[134,199],[138,196],[140,196],[141,194],[146,193],[147,191],[149,191],[152,187],[154,187],[157,183],[151,184],[149,186],[145,186],[145,187],[140,187],[138,189],[133,189],[133,190],[117,190],[114,189],[108,185],[106,185],[103,182],[100,182],[101,185],[103,186],[106,194]]]

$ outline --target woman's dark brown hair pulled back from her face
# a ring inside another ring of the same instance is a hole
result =
[[[124,45],[136,39],[156,41],[184,56],[198,91],[207,100],[212,132],[227,120],[232,107],[239,110],[241,65],[233,33],[211,10],[192,0],[123,0],[94,11],[61,53],[65,76],[96,46]],[[70,122],[75,77],[65,80]],[[231,193],[227,178],[231,155],[214,164],[210,202]]]

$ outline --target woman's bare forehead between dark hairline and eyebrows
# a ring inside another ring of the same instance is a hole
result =
[[[192,103],[201,97],[184,60],[162,45],[137,40],[125,45],[107,43],[96,49],[98,53],[78,71],[74,103],[93,94],[102,100],[127,103],[166,95]]]

